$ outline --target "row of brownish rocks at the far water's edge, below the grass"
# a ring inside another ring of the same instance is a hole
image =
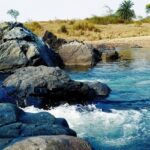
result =
[[[111,45],[66,41],[48,31],[45,32],[43,40],[58,52],[65,66],[93,67],[100,61],[119,59],[118,52]]]

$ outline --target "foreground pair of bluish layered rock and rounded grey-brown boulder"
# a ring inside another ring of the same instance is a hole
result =
[[[86,142],[76,138],[76,132],[69,128],[65,119],[55,118],[47,112],[26,113],[13,104],[0,104],[0,149],[58,150],[60,146],[90,150]]]

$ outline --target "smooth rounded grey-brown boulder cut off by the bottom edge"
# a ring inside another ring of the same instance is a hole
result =
[[[37,136],[19,140],[5,150],[91,150],[89,144],[70,136]]]

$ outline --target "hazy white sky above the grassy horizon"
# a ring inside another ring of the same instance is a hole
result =
[[[75,19],[105,15],[105,5],[116,10],[123,0],[0,0],[0,21],[10,20],[7,10],[20,12],[19,21]],[[145,5],[150,0],[133,0],[137,15],[145,16]]]

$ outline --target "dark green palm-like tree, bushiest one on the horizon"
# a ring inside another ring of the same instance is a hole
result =
[[[117,15],[127,22],[131,21],[132,18],[135,18],[135,12],[132,9],[133,5],[134,3],[131,0],[124,0],[117,10]]]

